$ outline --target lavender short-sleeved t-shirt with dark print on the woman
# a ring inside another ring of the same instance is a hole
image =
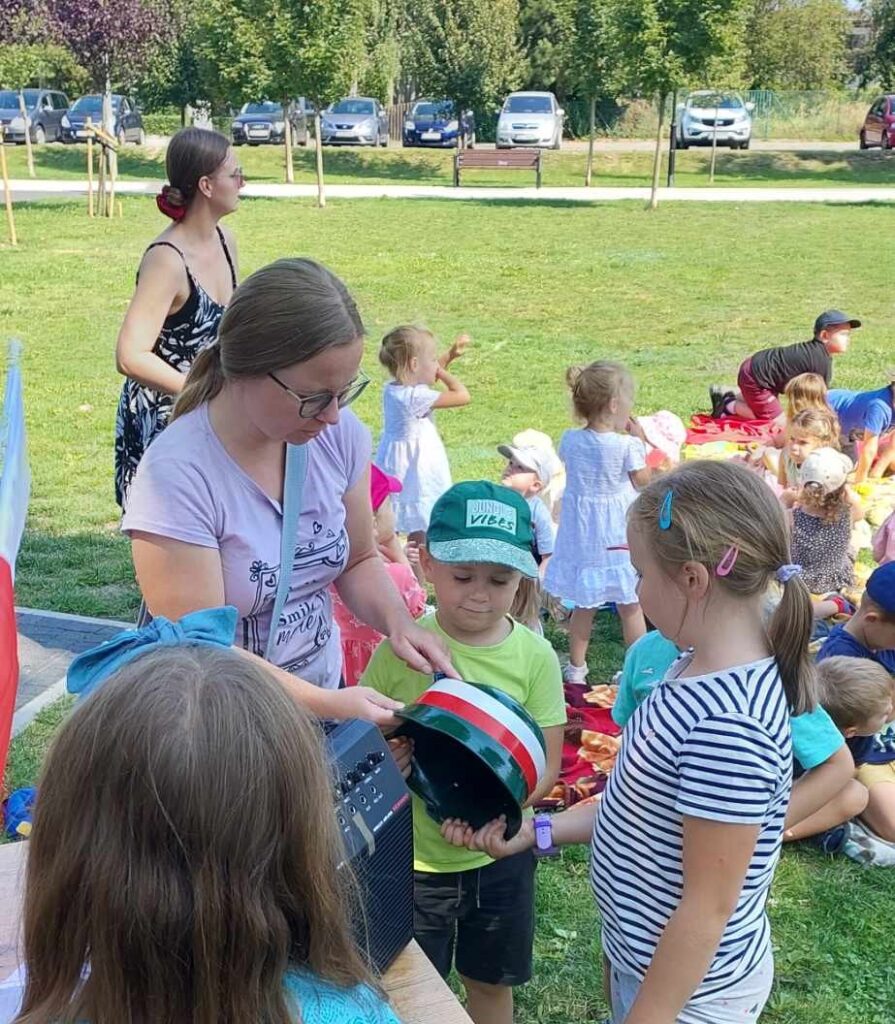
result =
[[[343,496],[370,465],[370,432],[350,410],[308,442],[292,584],[270,660],[318,686],[339,685],[342,654],[330,585],[348,562]],[[141,530],[216,548],[224,601],[240,612],[237,643],[264,655],[280,574],[283,510],[227,454],[208,407],[168,426],[140,461],[122,519]]]

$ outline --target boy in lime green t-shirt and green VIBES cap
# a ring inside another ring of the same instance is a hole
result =
[[[553,648],[509,615],[521,578],[538,577],[527,503],[484,480],[457,484],[432,509],[420,562],[437,600],[437,610],[420,625],[444,640],[463,679],[504,690],[544,731],[547,776],[529,799],[534,804],[559,774],[565,701]],[[360,682],[411,702],[432,680],[398,660],[385,642]],[[513,986],[531,976],[534,855],[494,861],[451,846],[415,796],[414,867],[417,941],[442,977],[456,949],[476,1024],[512,1024]]]

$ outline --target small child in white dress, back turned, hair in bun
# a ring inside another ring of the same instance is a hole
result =
[[[564,678],[584,683],[594,613],[601,604],[615,603],[626,645],[646,632],[625,531],[635,487],[647,482],[650,471],[642,431],[631,419],[634,381],[625,367],[604,360],[571,367],[566,382],[587,425],[566,430],[559,442],[565,493],[544,588],[576,605]]]

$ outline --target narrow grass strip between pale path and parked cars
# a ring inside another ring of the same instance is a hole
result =
[[[7,146],[9,173],[27,176],[24,146]],[[284,181],[284,153],[281,146],[241,146],[238,157],[250,181]],[[431,150],[363,150],[356,147],[324,151],[327,180],[348,184],[451,184],[453,154]],[[677,155],[675,184],[701,186],[709,183],[709,150],[696,148]],[[667,154],[666,158],[667,159]],[[314,177],[312,150],[295,151],[295,180],[310,183]],[[545,185],[584,183],[586,155],[581,150],[544,154]],[[864,153],[760,153],[720,148],[717,155],[716,184],[722,185],[888,185],[893,181],[895,157],[879,150]],[[86,175],[86,146],[52,143],[36,150],[37,174],[41,178],[83,178]],[[125,146],[120,157],[122,178],[164,178],[164,152],[158,147],[138,150]],[[652,173],[651,153],[605,153],[597,146],[594,184],[645,185]],[[534,184],[530,171],[464,172],[466,184]],[[663,181],[665,173],[663,172]]]

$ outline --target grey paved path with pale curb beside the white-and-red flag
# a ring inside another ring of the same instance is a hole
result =
[[[12,734],[65,692],[66,672],[76,654],[115,636],[128,623],[57,611],[16,608],[18,628],[18,693]]]

